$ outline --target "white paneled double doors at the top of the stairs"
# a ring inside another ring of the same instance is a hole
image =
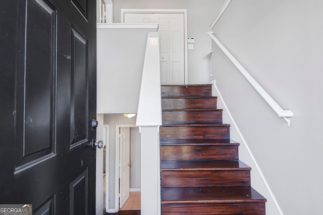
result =
[[[161,84],[184,84],[184,14],[125,13],[124,23],[158,23]]]

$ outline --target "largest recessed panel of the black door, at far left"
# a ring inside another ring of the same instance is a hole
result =
[[[18,14],[22,22],[18,26],[17,45],[19,49],[17,67],[21,73],[16,77],[17,106],[13,113],[17,117],[15,136],[19,141],[16,172],[55,153],[53,96],[56,89],[53,82],[56,71],[53,61],[56,60],[56,56],[53,50],[56,44],[56,13],[49,4],[35,0],[29,2],[27,10],[25,4],[20,4],[19,12],[22,10],[24,12]],[[44,19],[39,19],[39,16]],[[38,32],[35,36],[37,25],[44,31]],[[39,38],[44,39],[39,42]]]

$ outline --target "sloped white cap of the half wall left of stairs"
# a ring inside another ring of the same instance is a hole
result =
[[[159,33],[149,32],[137,110],[137,126],[161,125]]]

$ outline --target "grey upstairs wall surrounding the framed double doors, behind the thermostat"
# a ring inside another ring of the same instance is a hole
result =
[[[114,22],[120,23],[120,9],[187,9],[188,37],[194,37],[194,49],[188,49],[188,84],[208,84],[210,81],[210,31],[212,19],[223,0],[115,0]]]

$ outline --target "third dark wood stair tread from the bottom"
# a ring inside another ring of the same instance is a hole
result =
[[[239,146],[240,144],[231,139],[160,139],[160,146],[164,145]]]

